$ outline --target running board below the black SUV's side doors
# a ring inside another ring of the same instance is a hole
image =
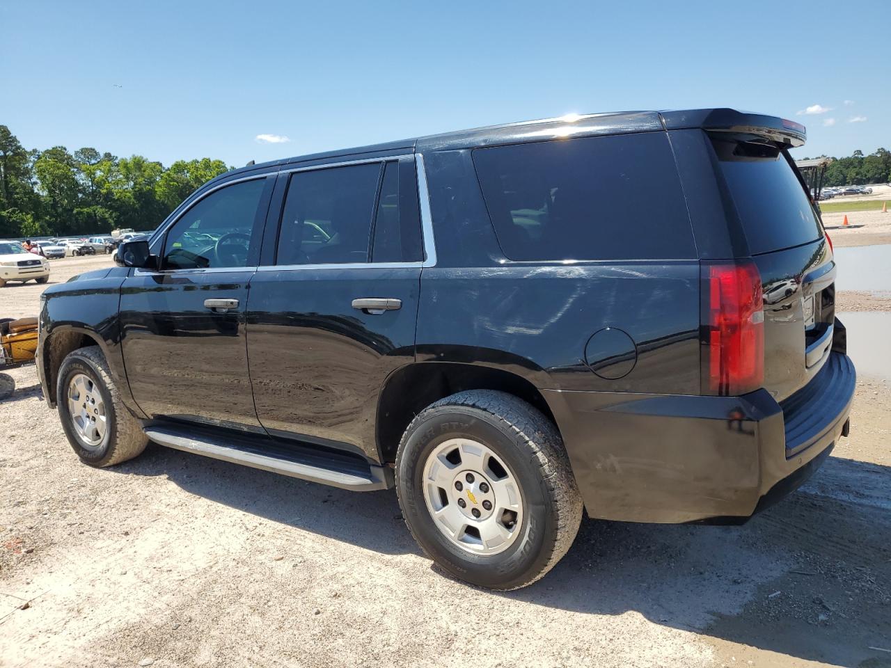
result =
[[[388,469],[340,452],[297,444],[285,446],[271,439],[221,437],[167,425],[151,425],[144,431],[152,441],[168,448],[341,489],[370,492],[393,486]]]

